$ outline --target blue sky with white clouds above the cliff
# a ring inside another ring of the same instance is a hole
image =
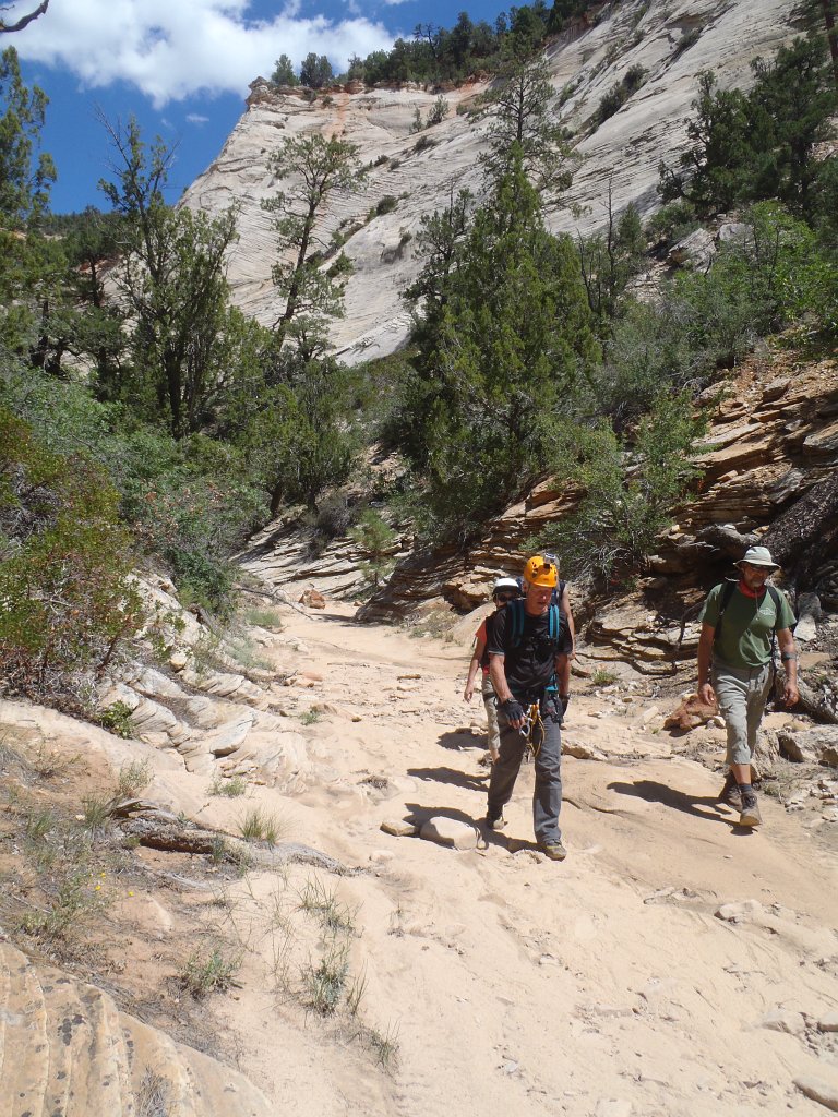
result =
[[[7,22],[37,0],[3,4]],[[501,0],[50,0],[45,16],[4,37],[25,80],[49,97],[42,149],[58,168],[53,209],[104,207],[96,184],[109,176],[97,111],[143,136],[178,143],[171,201],[216,157],[245,108],[248,84],[287,54],[314,50],[335,70],[409,36],[419,22],[451,27],[460,10],[494,21]]]

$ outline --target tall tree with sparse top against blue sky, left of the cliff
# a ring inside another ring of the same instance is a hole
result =
[[[122,131],[105,122],[117,152],[116,181],[99,183],[122,214],[124,241],[116,273],[135,319],[128,394],[182,438],[207,421],[219,386],[220,350],[235,326],[227,308],[226,255],[236,237],[236,210],[210,219],[164,201],[173,155],[151,151],[132,117]]]

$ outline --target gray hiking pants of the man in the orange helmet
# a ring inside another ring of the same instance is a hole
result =
[[[535,840],[550,846],[561,841],[559,812],[562,809],[562,707],[553,697],[541,699],[542,727],[533,728],[535,748],[535,790],[533,792],[533,829]],[[501,755],[492,765],[487,814],[496,819],[512,799],[527,743],[513,729],[502,709],[497,712],[501,727]]]

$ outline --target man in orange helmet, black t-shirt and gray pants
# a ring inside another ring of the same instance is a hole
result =
[[[555,563],[534,555],[524,567],[524,580],[526,596],[496,615],[488,643],[501,750],[492,767],[486,818],[493,830],[504,828],[503,809],[512,799],[524,753],[532,747],[535,839],[551,860],[563,861],[561,724],[570,698],[572,641],[566,618],[551,604],[559,582]]]

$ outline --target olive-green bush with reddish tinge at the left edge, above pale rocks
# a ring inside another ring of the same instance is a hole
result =
[[[44,448],[0,408],[0,677],[7,693],[80,700],[142,623],[118,495],[80,455]]]

